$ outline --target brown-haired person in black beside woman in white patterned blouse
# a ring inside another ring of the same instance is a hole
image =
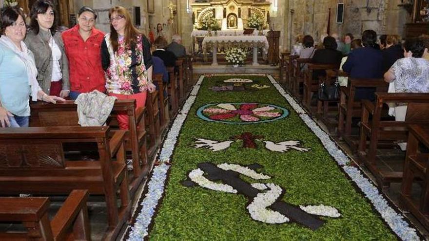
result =
[[[388,35],[386,38],[386,48],[383,50],[383,72],[390,69],[393,63],[404,57],[404,50],[401,46],[401,39],[398,35]]]

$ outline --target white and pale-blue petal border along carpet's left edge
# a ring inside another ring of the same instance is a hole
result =
[[[134,226],[128,227],[125,231],[125,234],[129,232],[127,239],[128,241],[141,241],[148,235],[148,228],[152,222],[152,217],[155,214],[156,206],[158,205],[159,200],[164,193],[165,180],[167,179],[167,173],[170,168],[170,166],[166,165],[166,163],[170,162],[171,155],[173,154],[173,150],[176,147],[177,137],[179,136],[180,129],[182,128],[183,122],[185,121],[191,106],[195,102],[196,94],[199,91],[203,79],[204,75],[201,75],[167,133],[167,138],[164,140],[161,152],[158,156],[158,160],[161,162],[161,164],[154,167],[152,170],[151,179],[147,184],[147,192],[143,201],[139,204],[142,208],[136,218]]]

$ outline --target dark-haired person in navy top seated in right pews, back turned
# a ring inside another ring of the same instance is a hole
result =
[[[378,44],[377,34],[373,30],[365,30],[362,33],[362,48],[350,52],[347,61],[343,65],[344,72],[351,78],[382,78],[383,54],[376,49]],[[375,88],[357,88],[355,100],[374,100]]]

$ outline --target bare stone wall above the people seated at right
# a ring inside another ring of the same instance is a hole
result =
[[[344,21],[336,23],[337,3],[344,2]],[[330,33],[344,36],[352,33],[360,37],[366,29],[374,30],[378,35],[398,34],[404,36],[405,23],[410,21],[409,14],[398,4],[401,0],[289,0],[294,10],[292,24],[292,44],[297,35],[312,35],[315,41],[327,33],[329,8],[331,8]],[[285,42],[286,49],[289,43]]]

